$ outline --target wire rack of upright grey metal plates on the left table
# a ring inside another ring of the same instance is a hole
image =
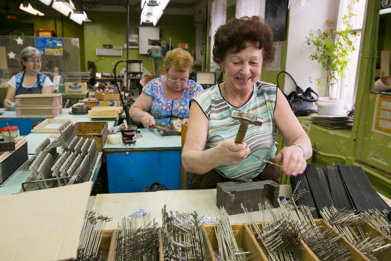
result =
[[[78,178],[72,183],[90,179],[99,154],[96,141],[77,138],[69,120],[58,130],[61,132],[58,139],[50,142],[46,138],[36,148],[35,159],[29,167],[30,175],[22,183],[20,192],[67,185],[76,171]],[[59,146],[63,149],[60,157],[56,152]]]

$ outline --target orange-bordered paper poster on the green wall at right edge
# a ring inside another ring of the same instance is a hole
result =
[[[376,95],[372,131],[391,137],[391,96]]]

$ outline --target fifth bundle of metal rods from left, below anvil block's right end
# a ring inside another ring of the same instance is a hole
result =
[[[271,205],[265,202],[265,207],[258,204],[262,220],[262,228],[259,228],[247,209],[244,213],[247,217],[250,229],[260,245],[264,246],[270,260],[300,261],[300,252],[303,246],[300,242],[300,230],[291,221],[284,221],[282,216],[271,210]]]

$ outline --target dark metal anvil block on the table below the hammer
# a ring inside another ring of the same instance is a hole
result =
[[[273,208],[278,207],[280,185],[272,180],[239,183],[232,181],[217,183],[217,207],[224,207],[228,215],[259,210],[258,203],[268,201]]]

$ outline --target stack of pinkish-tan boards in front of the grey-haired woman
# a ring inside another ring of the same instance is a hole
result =
[[[63,112],[61,93],[20,94],[15,96],[16,116],[55,117]]]

